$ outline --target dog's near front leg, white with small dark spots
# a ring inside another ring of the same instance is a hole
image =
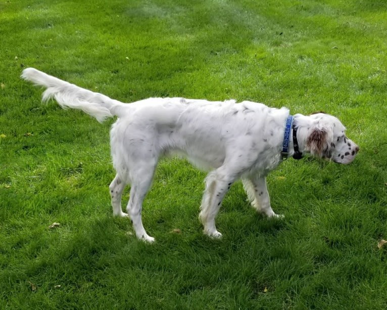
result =
[[[204,226],[204,233],[212,238],[221,238],[215,226],[215,217],[219,212],[224,195],[230,189],[234,179],[221,173],[221,169],[210,172],[206,178],[201,212],[199,218]]]

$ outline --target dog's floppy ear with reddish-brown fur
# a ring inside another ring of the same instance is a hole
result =
[[[312,127],[306,140],[306,146],[312,155],[330,157],[330,146],[333,142],[333,130],[326,127]]]

